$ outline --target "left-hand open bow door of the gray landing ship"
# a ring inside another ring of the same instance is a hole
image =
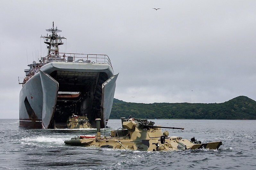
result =
[[[59,83],[41,70],[39,74],[43,90],[42,128],[47,129],[55,110]]]

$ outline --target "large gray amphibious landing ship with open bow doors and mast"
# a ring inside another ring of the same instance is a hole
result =
[[[68,121],[75,120],[96,127],[95,119],[101,118],[103,128],[110,116],[118,76],[109,57],[61,53],[59,45],[66,38],[57,33],[62,31],[54,28],[54,22],[46,31],[50,35],[41,38],[47,44],[47,56],[29,64],[23,80],[19,77],[20,126],[68,128]]]

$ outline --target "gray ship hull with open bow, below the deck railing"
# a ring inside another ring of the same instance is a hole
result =
[[[50,62],[20,92],[20,125],[65,127],[72,114],[108,121],[115,93],[113,69],[102,63]],[[101,127],[104,127],[102,121]]]

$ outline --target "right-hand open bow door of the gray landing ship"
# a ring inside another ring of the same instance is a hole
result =
[[[115,81],[117,79],[118,74],[110,77],[107,81],[105,81],[102,84],[101,108],[103,108],[103,119],[104,119],[105,128],[106,128],[106,119],[109,118],[112,105],[113,105],[113,99],[115,94]]]

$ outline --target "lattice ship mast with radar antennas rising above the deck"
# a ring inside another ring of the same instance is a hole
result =
[[[48,48],[48,57],[47,59],[51,59],[54,56],[59,56],[59,45],[63,45],[62,39],[66,39],[65,37],[61,37],[58,35],[58,32],[62,32],[62,30],[54,28],[54,21],[52,22],[52,28],[46,29],[47,32],[51,32],[48,36],[41,36],[41,38],[44,38],[44,43],[47,44]],[[51,54],[51,55],[50,55]]]

